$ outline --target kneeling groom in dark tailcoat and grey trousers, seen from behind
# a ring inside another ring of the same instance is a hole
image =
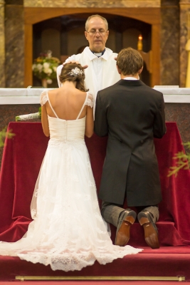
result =
[[[163,95],[139,81],[142,66],[138,51],[123,49],[117,56],[121,80],[97,93],[95,133],[108,135],[99,197],[102,217],[117,227],[115,244],[127,244],[137,217],[154,249],[159,248],[155,223],[162,200],[154,138],[162,138],[166,125]]]

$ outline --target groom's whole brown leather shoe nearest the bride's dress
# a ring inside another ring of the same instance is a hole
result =
[[[132,209],[126,209],[122,212],[115,237],[115,245],[125,247],[130,239],[130,227],[134,224],[137,214]]]

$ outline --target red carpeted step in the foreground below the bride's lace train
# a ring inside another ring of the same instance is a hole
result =
[[[81,271],[52,271],[50,266],[32,264],[19,257],[0,257],[1,281],[15,276],[185,276],[190,281],[190,248],[144,249],[142,253],[116,259],[110,264],[97,262]]]

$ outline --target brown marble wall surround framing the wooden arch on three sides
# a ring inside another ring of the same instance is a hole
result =
[[[160,84],[185,87],[190,0],[0,0],[0,87],[23,87],[24,8],[41,6],[161,7]]]

